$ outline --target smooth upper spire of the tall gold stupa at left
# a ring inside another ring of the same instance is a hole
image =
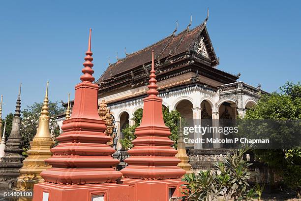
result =
[[[39,128],[34,136],[34,138],[51,138],[50,132],[49,132],[49,107],[48,107],[48,84],[49,82],[47,82],[46,85],[46,94],[45,94],[45,98],[44,98],[44,102],[42,105],[42,111],[41,111],[41,116],[39,118]],[[33,139],[34,139],[33,138]]]

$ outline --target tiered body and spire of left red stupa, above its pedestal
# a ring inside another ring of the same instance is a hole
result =
[[[121,177],[113,169],[119,161],[111,157],[115,150],[106,144],[111,137],[104,134],[105,121],[98,115],[98,85],[92,83],[91,30],[86,55],[82,82],[75,86],[72,116],[63,121],[63,133],[57,137],[60,143],[51,149],[53,156],[46,160],[53,167],[41,173],[45,185],[70,184],[78,191],[85,184],[111,183]]]

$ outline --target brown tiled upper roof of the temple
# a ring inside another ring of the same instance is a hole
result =
[[[123,72],[132,70],[143,64],[151,62],[150,52],[154,50],[155,59],[167,59],[181,53],[186,52],[187,48],[191,48],[198,36],[204,32],[207,35],[208,41],[206,48],[211,59],[211,67],[218,64],[218,60],[214,53],[209,35],[206,30],[206,25],[203,23],[192,30],[184,30],[178,35],[169,35],[166,38],[132,54],[128,54],[126,58],[119,59],[115,64],[111,64],[104,73],[100,76],[97,82],[102,82],[111,79]]]

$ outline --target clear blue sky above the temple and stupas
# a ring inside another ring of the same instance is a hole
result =
[[[288,3],[289,2],[289,3]],[[49,81],[50,100],[74,96],[89,28],[92,28],[94,77],[127,52],[142,49],[203,22],[219,69],[241,72],[241,81],[268,92],[286,81],[300,81],[301,2],[297,0],[10,0],[0,5],[0,94],[3,115],[14,112],[22,82],[22,108],[41,102]],[[21,108],[21,109],[22,109]]]

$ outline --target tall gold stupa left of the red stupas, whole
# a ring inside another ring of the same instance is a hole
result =
[[[20,169],[20,176],[17,179],[15,190],[32,191],[33,185],[43,182],[44,179],[40,173],[51,166],[45,163],[52,153],[54,141],[49,132],[49,108],[48,108],[48,82],[46,86],[46,95],[42,105],[41,115],[39,117],[39,127],[37,133],[30,142],[30,149],[27,151],[28,157],[23,161],[23,167]],[[29,197],[19,197],[19,201],[31,201]]]

